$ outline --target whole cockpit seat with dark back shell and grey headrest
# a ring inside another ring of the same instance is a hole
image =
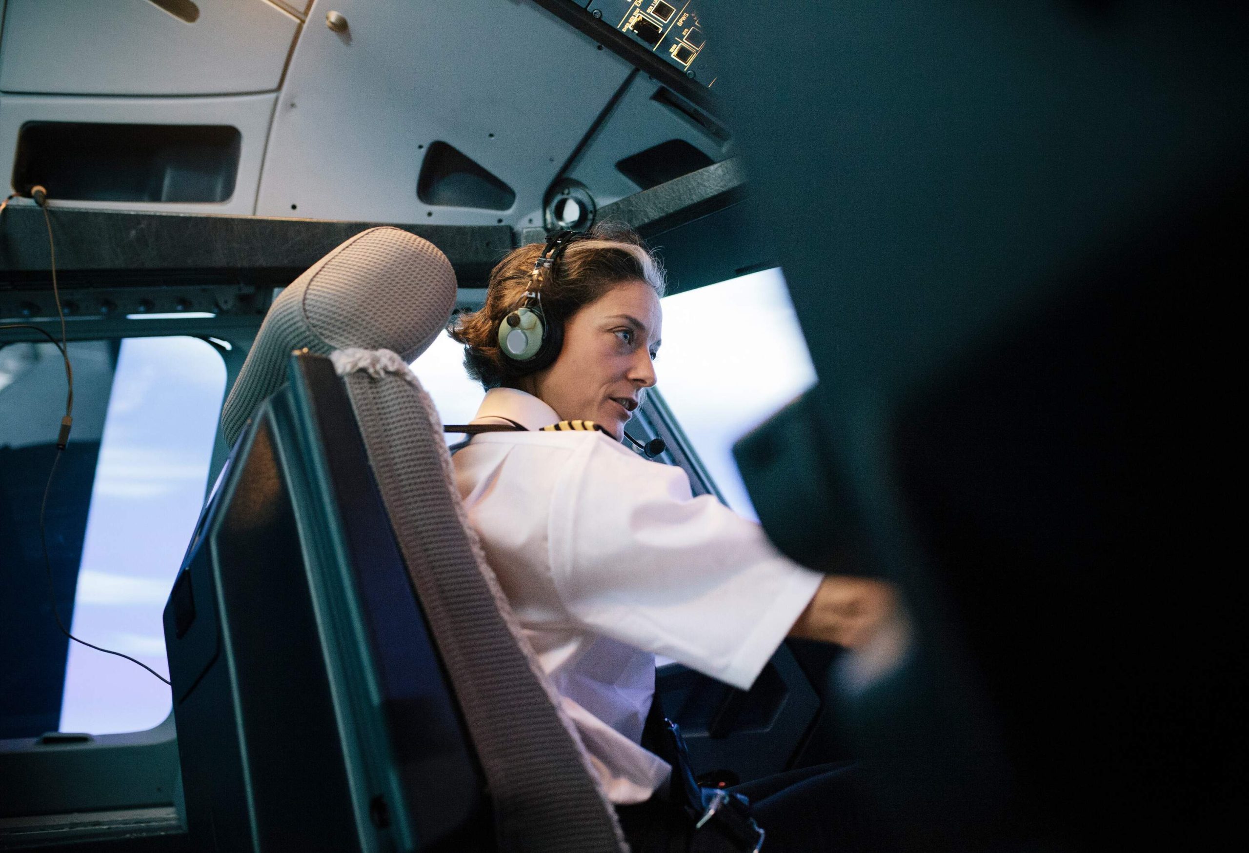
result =
[[[200,849],[627,849],[406,366],[455,298],[430,242],[363,231],[275,300],[230,392],[165,609]]]

